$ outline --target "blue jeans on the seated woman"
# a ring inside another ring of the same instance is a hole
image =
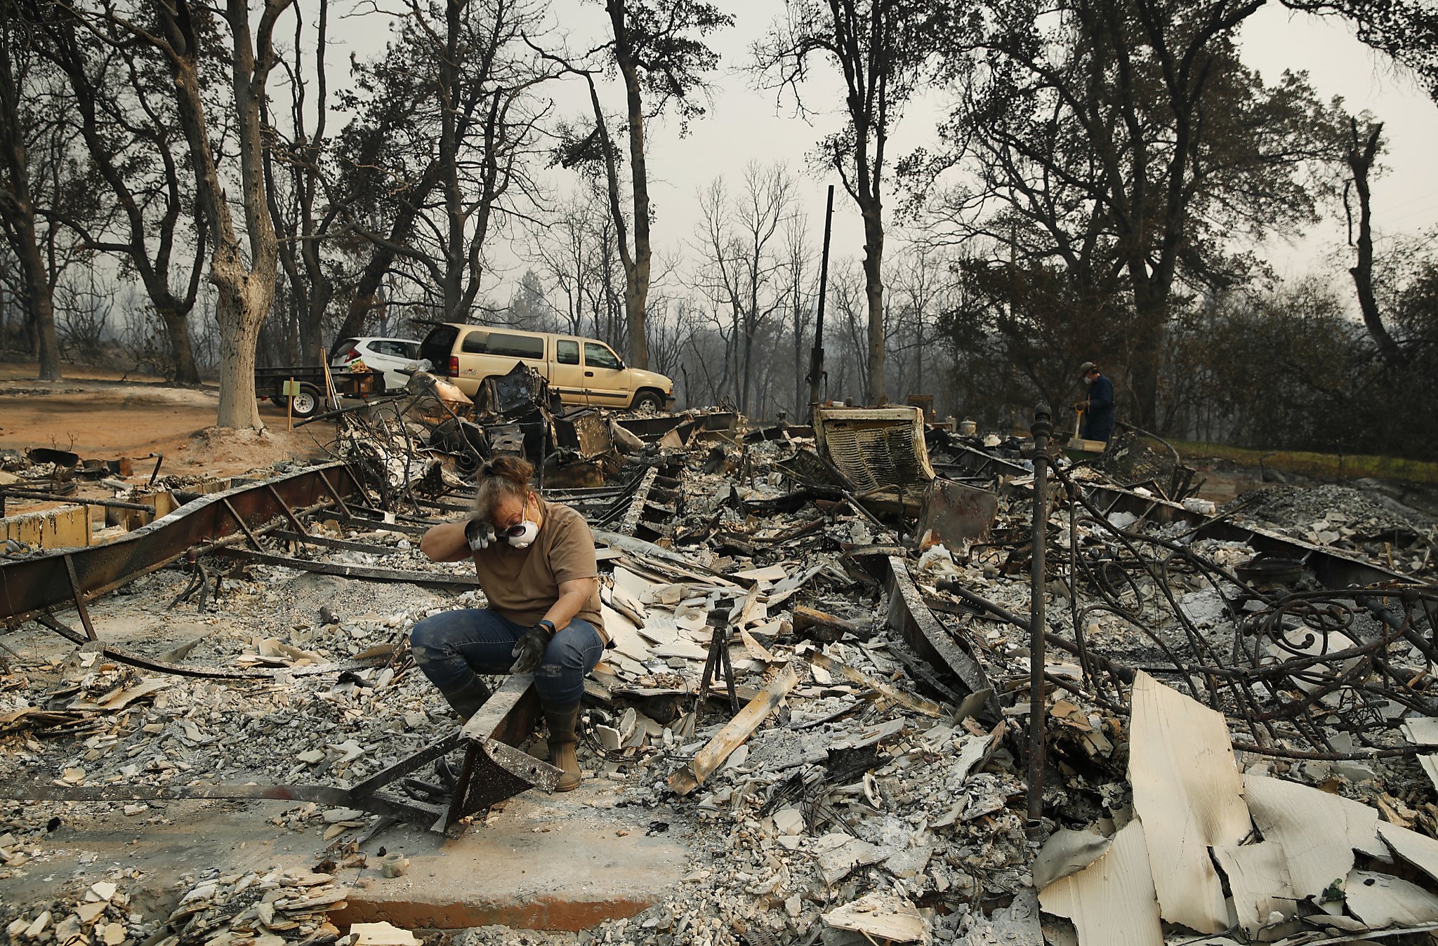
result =
[[[410,631],[414,663],[441,693],[453,693],[480,673],[509,673],[515,643],[528,627],[489,608],[431,614]],[[546,706],[569,706],[584,696],[584,674],[594,670],[604,641],[594,625],[574,618],[549,638],[535,670],[535,690]]]

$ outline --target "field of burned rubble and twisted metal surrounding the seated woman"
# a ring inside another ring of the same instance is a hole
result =
[[[10,942],[1438,929],[1438,523],[1382,483],[1215,505],[1132,433],[565,408],[522,369],[326,431],[213,482],[7,457]],[[598,548],[568,794],[528,674],[462,723],[410,651],[483,605],[418,545],[506,451]]]

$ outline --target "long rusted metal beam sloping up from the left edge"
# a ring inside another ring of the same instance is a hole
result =
[[[285,506],[311,508],[357,495],[360,487],[349,467],[329,463],[203,496],[105,545],[0,564],[0,618],[17,627],[42,611],[73,602],[66,556],[73,564],[76,591],[88,600],[170,565],[194,545],[242,535],[226,500],[247,528],[259,528],[282,518]]]

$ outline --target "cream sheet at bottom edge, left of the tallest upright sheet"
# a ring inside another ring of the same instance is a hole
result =
[[[1149,850],[1137,818],[1113,835],[1093,864],[1044,887],[1038,903],[1073,920],[1080,946],[1163,945]]]

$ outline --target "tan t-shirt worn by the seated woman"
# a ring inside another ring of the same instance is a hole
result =
[[[559,503],[539,500],[544,525],[526,549],[516,549],[509,539],[482,552],[475,552],[479,587],[489,598],[489,607],[515,624],[538,624],[559,600],[559,582],[577,578],[597,578],[594,533],[584,516]],[[600,617],[600,585],[595,582],[590,600],[580,608],[581,617],[594,625],[604,643],[604,618]]]

